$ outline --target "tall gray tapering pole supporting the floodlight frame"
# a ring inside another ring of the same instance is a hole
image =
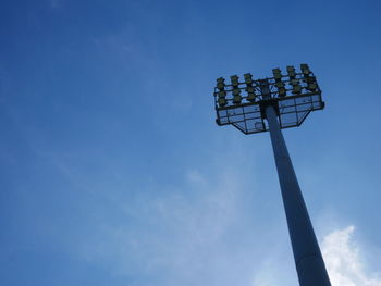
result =
[[[266,107],[279,183],[300,286],[331,286],[276,113]]]

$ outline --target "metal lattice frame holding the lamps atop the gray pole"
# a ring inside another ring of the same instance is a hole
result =
[[[316,78],[314,73],[310,73],[308,76]],[[263,97],[260,90],[261,80],[266,80],[269,85],[270,92],[267,95],[267,98]],[[292,80],[297,80],[300,84],[300,94],[292,94]],[[216,87],[213,96],[217,124],[220,126],[232,124],[244,134],[255,134],[269,130],[268,123],[263,120],[263,110],[267,104],[272,104],[275,108],[282,129],[300,126],[311,111],[324,108],[319,86],[317,85],[315,91],[308,90],[307,79],[303,73],[295,73],[294,78],[290,78],[288,75],[282,76],[281,82],[284,86],[288,86],[288,88],[285,88],[286,96],[284,97],[281,97],[279,94],[279,89],[275,86],[278,82],[274,77],[253,80],[253,87],[256,92],[255,101],[247,99],[246,83],[238,83],[237,89],[241,92],[246,92],[245,96],[242,96],[242,103],[238,104],[233,102],[233,85],[225,85],[226,105],[224,107],[218,103],[219,89]]]

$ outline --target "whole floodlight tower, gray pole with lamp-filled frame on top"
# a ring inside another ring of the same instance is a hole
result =
[[[272,77],[253,79],[251,74],[231,76],[231,84],[217,79],[217,124],[244,134],[270,132],[283,206],[300,286],[330,286],[324,261],[310,222],[281,129],[300,126],[311,111],[322,110],[321,90],[307,64],[302,72],[287,66],[287,74],[273,69]]]

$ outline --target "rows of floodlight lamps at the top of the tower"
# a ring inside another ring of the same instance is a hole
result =
[[[270,85],[275,87],[276,91],[272,92],[278,94],[280,98],[286,97],[288,90],[295,96],[300,95],[303,92],[303,89],[306,89],[310,92],[316,92],[318,90],[318,84],[308,65],[305,63],[300,64],[300,71],[302,73],[296,73],[295,67],[288,65],[286,67],[287,74],[283,75],[280,69],[273,69],[273,82],[270,80]],[[217,103],[219,107],[223,108],[228,105],[228,91],[232,92],[233,99],[230,100],[232,100],[234,104],[241,104],[243,99],[246,99],[248,102],[255,102],[257,100],[259,96],[259,94],[256,94],[256,90],[258,90],[256,89],[258,86],[258,80],[254,80],[251,74],[244,74],[245,83],[239,83],[239,77],[237,75],[232,75],[230,79],[231,85],[229,85],[229,90],[225,90],[226,84],[223,77],[217,79],[216,95]],[[239,87],[243,84],[246,85],[245,88]],[[291,88],[287,89],[286,85],[291,86]],[[245,90],[247,92],[246,97],[243,97],[241,95],[242,90]]]

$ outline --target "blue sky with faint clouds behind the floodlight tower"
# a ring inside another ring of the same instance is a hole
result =
[[[269,134],[212,90],[306,62],[327,108],[284,136],[332,284],[380,286],[380,9],[1,2],[1,285],[297,285]]]

